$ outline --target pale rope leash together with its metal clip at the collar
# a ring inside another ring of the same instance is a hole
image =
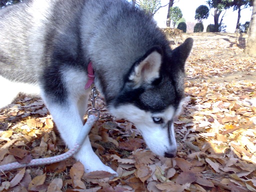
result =
[[[25,166],[34,166],[34,165],[43,165],[43,164],[51,164],[54,162],[59,162],[61,160],[67,159],[70,156],[74,155],[81,147],[85,137],[88,135],[91,127],[98,120],[100,111],[95,108],[95,99],[97,97],[97,89],[96,87],[91,88],[92,98],[90,99],[92,102],[92,109],[88,110],[88,118],[83,128],[81,129],[79,136],[77,137],[74,147],[69,149],[67,152],[63,154],[59,154],[56,156],[46,157],[46,158],[37,158],[32,159],[28,163],[19,163],[19,162],[12,162],[9,164],[0,165],[0,171],[8,171],[16,168],[21,168]]]

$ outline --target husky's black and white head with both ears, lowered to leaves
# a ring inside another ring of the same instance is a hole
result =
[[[176,155],[173,118],[181,108],[184,64],[192,43],[187,38],[171,53],[159,46],[148,50],[130,68],[122,91],[109,107],[117,118],[133,122],[157,155]]]

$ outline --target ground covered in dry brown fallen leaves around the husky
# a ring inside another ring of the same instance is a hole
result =
[[[155,156],[126,120],[102,115],[89,137],[119,176],[85,174],[73,158],[0,172],[0,191],[256,191],[256,58],[242,55],[244,37],[191,33],[185,102],[175,120],[177,157]],[[4,94],[4,92],[1,92]],[[40,98],[18,97],[0,110],[0,165],[61,154]]]

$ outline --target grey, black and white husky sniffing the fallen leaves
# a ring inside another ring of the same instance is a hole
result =
[[[91,62],[110,113],[133,122],[155,154],[176,155],[173,118],[191,38],[171,50],[152,17],[125,0],[24,0],[0,17],[0,107],[19,92],[39,93],[72,148],[83,127]],[[116,174],[88,136],[75,158],[85,172]]]

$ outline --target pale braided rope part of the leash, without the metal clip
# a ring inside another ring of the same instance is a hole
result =
[[[56,155],[56,156],[32,159],[29,163],[22,163],[21,164],[21,163],[18,163],[18,162],[12,162],[12,163],[9,163],[9,164],[4,164],[4,165],[0,166],[0,170],[1,171],[8,171],[8,170],[12,170],[12,169],[15,169],[15,168],[21,168],[21,167],[25,167],[25,166],[50,164],[50,163],[54,163],[54,162],[59,162],[61,160],[64,160],[64,159],[72,156],[81,147],[81,144],[82,144],[83,140],[88,135],[92,125],[95,123],[97,118],[98,117],[93,115],[93,114],[89,115],[86,123],[83,125],[83,128],[81,129],[81,131],[79,133],[79,136],[76,139],[74,147],[69,149],[67,152],[65,152],[63,154]]]

